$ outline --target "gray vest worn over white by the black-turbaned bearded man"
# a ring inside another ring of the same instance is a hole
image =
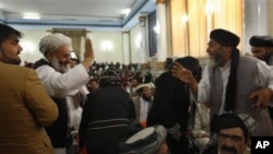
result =
[[[258,59],[251,57],[240,57],[239,59],[235,112],[252,115],[258,125],[253,135],[273,135],[273,128],[268,108],[253,108],[251,104],[253,104],[256,99],[249,99],[249,96],[253,92],[262,88],[254,84],[254,78],[258,73],[257,62]],[[211,115],[213,115],[219,112],[223,96],[223,80],[218,67],[210,68],[209,71],[211,83]]]

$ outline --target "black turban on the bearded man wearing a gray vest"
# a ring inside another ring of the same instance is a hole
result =
[[[230,47],[237,47],[240,42],[240,38],[236,34],[223,28],[213,29],[210,34],[210,38],[214,39],[222,46]]]

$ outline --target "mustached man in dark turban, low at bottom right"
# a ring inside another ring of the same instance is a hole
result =
[[[250,154],[250,135],[256,129],[256,121],[246,114],[214,115],[211,132],[216,133],[217,145],[211,146],[203,154]]]

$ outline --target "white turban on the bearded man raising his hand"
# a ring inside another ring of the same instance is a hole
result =
[[[70,46],[70,48],[72,49],[71,39],[60,33],[47,35],[39,42],[39,50],[43,55],[48,51],[56,51],[63,46]]]

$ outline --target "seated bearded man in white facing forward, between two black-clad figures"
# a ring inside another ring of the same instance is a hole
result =
[[[153,96],[150,83],[141,83],[136,86],[138,97],[133,97],[135,109],[135,120],[141,123],[142,128],[146,127],[147,114],[153,104]]]

